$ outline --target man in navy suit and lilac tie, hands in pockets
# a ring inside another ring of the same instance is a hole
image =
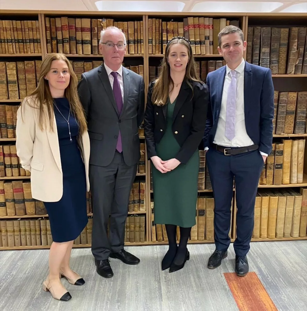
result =
[[[218,41],[218,51],[227,64],[207,76],[210,95],[203,137],[215,202],[216,249],[207,266],[214,269],[227,257],[235,179],[235,272],[245,276],[258,181],[272,149],[274,87],[270,69],[244,61],[246,41],[240,28],[226,26]]]

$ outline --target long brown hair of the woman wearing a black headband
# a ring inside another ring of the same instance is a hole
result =
[[[167,63],[167,58],[170,54],[170,47],[173,44],[180,43],[183,44],[187,50],[188,50],[188,64],[185,71],[185,77],[184,80],[188,83],[188,85],[192,88],[192,85],[190,84],[189,80],[193,81],[199,81],[198,79],[197,71],[196,71],[196,64],[194,61],[193,54],[190,50],[190,44],[182,38],[175,38],[172,39],[172,41],[166,46],[164,57],[161,61],[161,70],[158,78],[155,81],[155,84],[153,86],[152,95],[151,95],[151,102],[157,106],[163,106],[167,103],[167,98],[170,93],[170,87],[171,90],[173,90],[174,82],[172,78],[170,77],[170,66]]]

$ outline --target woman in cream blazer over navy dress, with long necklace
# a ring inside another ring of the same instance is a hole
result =
[[[77,77],[63,54],[44,58],[40,80],[17,111],[16,149],[21,166],[31,172],[32,197],[44,202],[53,243],[43,289],[53,298],[72,298],[62,285],[85,281],[69,267],[74,239],[87,224],[86,191],[90,141],[77,95]]]

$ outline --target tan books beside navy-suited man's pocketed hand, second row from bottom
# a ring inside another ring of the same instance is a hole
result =
[[[272,151],[263,165],[260,185],[303,183],[305,138],[281,139],[272,143]]]

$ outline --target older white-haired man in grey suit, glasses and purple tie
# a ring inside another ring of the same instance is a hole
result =
[[[113,276],[109,257],[126,264],[140,262],[123,249],[129,195],[140,160],[138,127],[145,104],[144,79],[122,66],[126,47],[121,30],[103,30],[99,49],[104,63],[83,73],[78,85],[91,142],[92,253],[97,273],[106,278]]]

